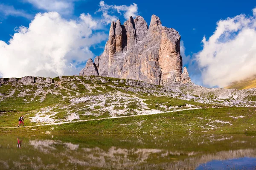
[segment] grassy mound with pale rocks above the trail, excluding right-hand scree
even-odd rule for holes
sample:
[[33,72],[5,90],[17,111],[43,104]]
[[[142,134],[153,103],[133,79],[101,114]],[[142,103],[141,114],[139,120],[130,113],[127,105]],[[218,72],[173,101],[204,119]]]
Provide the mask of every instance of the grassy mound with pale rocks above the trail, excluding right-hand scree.
[[26,125],[38,125],[213,106],[161,86],[130,83],[134,87],[122,79],[74,76],[50,84],[7,81],[0,85],[0,127],[17,126],[21,115]]

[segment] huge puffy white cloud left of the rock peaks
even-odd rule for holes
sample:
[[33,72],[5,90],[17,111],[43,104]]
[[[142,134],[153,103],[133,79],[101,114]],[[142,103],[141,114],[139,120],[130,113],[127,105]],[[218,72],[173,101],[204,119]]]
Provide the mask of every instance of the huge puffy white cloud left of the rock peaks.
[[93,34],[97,24],[89,14],[65,20],[57,12],[38,13],[29,28],[20,26],[8,44],[0,41],[1,76],[77,74],[80,63],[93,57],[90,47],[108,37]]

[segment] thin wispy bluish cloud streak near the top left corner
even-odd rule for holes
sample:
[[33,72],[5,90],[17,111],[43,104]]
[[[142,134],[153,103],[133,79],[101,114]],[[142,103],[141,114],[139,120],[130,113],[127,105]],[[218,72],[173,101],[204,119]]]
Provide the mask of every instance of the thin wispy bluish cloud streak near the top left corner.
[[15,9],[13,6],[8,6],[4,4],[0,4],[0,14],[3,14],[5,17],[7,16],[15,16],[15,17],[25,17],[27,19],[32,19],[33,15],[28,14],[26,11]]

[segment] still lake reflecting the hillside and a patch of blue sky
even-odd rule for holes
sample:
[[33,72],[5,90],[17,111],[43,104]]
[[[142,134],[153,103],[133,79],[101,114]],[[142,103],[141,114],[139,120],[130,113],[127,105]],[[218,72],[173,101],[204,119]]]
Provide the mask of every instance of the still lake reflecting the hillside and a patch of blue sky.
[[256,168],[256,136],[0,135],[3,170]]

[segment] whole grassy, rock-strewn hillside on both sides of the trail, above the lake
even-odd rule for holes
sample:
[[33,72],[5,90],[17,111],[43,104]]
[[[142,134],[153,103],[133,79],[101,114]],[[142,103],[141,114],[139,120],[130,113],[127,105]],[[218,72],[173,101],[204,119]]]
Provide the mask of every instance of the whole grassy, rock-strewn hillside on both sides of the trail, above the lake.
[[[227,107],[230,101],[236,103],[234,99],[189,95],[180,91],[179,86],[165,88],[136,80],[63,76],[56,77],[54,82],[50,83],[29,83],[20,79],[4,79],[0,84],[0,131],[24,133],[254,131],[255,108],[230,108]],[[237,103],[239,106],[244,105]],[[194,108],[198,110],[182,111]],[[21,115],[25,116],[26,126],[46,126],[5,128],[17,127],[17,120]],[[54,123],[65,124],[52,125]]]

